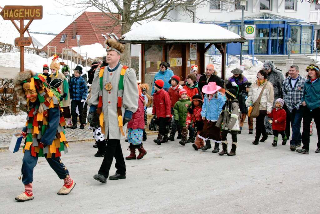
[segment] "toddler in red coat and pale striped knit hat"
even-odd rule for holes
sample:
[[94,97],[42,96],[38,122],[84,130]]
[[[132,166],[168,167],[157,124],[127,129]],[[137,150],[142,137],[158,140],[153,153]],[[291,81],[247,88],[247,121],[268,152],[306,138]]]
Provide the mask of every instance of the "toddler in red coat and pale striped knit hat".
[[276,100],[276,108],[274,108],[271,113],[268,115],[269,118],[273,119],[272,121],[272,130],[273,130],[273,146],[277,146],[279,133],[282,136],[282,145],[287,143],[287,136],[284,133],[285,122],[286,122],[286,112],[282,109],[284,105],[284,100],[279,98]]

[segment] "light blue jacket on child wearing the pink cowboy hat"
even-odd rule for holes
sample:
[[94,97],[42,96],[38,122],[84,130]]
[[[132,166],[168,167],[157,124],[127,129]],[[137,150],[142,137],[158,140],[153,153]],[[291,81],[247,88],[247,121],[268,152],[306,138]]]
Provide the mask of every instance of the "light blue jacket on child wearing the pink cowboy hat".
[[225,100],[220,92],[218,92],[218,98],[215,98],[215,95],[213,95],[210,102],[209,96],[206,94],[202,105],[201,117],[205,117],[207,120],[217,121],[224,103]]

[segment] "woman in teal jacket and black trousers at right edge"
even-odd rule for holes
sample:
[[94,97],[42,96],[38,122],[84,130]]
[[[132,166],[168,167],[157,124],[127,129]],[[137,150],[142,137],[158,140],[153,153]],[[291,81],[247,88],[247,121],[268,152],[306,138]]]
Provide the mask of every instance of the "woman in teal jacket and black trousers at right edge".
[[302,105],[307,106],[303,110],[302,149],[296,151],[301,154],[309,154],[310,123],[314,119],[318,134],[316,153],[320,153],[320,71],[316,65],[309,65],[307,81],[303,87]]

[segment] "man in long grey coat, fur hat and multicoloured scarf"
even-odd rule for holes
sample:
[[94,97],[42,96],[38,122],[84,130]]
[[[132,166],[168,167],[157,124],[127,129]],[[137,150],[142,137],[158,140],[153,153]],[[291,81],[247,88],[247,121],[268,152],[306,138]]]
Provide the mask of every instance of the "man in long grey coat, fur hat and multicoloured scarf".
[[95,111],[100,114],[100,127],[107,142],[107,152],[94,179],[107,183],[113,157],[116,159],[116,174],[110,180],[125,177],[125,163],[120,139],[125,138],[127,122],[138,109],[138,86],[133,69],[119,63],[124,45],[114,39],[106,40],[108,66],[97,69],[92,81],[88,122]]

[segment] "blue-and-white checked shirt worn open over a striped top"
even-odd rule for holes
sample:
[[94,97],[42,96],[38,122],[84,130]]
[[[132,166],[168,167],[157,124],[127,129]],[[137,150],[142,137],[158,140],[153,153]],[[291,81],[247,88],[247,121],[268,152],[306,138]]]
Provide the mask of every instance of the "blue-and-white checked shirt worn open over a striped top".
[[298,80],[294,88],[292,89],[291,77],[287,77],[284,79],[282,85],[283,99],[290,112],[292,112],[294,108],[300,108],[300,105],[302,103],[301,98],[303,97],[303,87],[306,81],[306,78],[299,75]]

